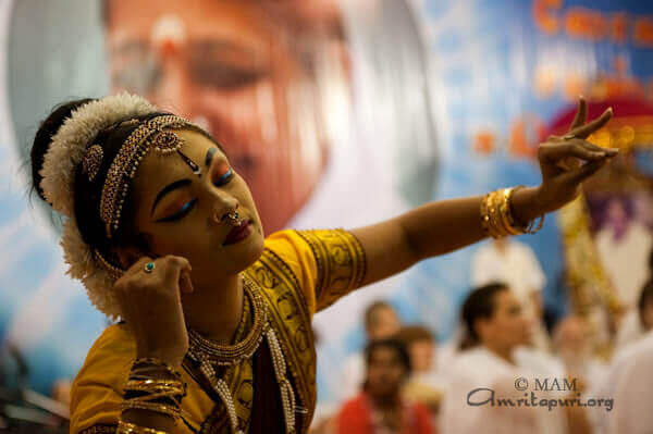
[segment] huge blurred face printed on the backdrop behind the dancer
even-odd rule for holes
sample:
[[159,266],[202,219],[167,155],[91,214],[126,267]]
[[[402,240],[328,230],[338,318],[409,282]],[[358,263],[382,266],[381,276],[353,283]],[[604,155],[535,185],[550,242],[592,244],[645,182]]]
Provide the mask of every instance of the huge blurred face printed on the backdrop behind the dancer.
[[287,38],[248,0],[108,0],[114,91],[202,125],[276,231],[306,202],[325,149],[312,87]]

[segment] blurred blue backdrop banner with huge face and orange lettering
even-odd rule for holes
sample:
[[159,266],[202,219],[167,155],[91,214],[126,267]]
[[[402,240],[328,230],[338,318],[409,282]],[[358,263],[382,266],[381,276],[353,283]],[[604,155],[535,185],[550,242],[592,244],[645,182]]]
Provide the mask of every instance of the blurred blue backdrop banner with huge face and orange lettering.
[[[57,219],[28,195],[38,123],[75,97],[128,90],[205,126],[248,181],[269,234],[359,226],[432,199],[534,185],[537,144],[560,131],[584,95],[617,114],[592,139],[631,151],[592,186],[580,214],[596,260],[616,245],[641,258],[650,248],[634,243],[651,228],[646,2],[1,0],[0,53],[0,384],[25,373],[49,394],[74,377],[107,325],[65,276]],[[620,244],[631,221],[645,235]],[[569,220],[560,222],[547,219],[522,239],[542,264],[552,318],[578,308],[560,285],[563,270],[577,265],[566,263],[572,239],[560,227]],[[402,320],[446,340],[476,249],[317,315],[321,402],[336,399],[341,361],[362,345],[360,317],[372,300],[389,299]],[[613,296],[636,285],[604,271]]]

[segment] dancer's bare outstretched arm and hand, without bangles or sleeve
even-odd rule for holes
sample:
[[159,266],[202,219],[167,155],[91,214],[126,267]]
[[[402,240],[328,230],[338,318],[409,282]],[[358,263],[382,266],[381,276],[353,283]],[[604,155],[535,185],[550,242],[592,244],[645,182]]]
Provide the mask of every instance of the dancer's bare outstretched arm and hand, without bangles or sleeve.
[[[615,149],[586,140],[611,117],[612,109],[608,109],[586,124],[587,104],[580,99],[569,133],[564,137],[552,136],[540,145],[542,184],[516,189],[512,197],[512,214],[518,224],[526,226],[576,198],[582,182],[617,154]],[[395,219],[353,230],[367,255],[364,285],[486,237],[481,225],[481,200],[479,196],[430,202]]]

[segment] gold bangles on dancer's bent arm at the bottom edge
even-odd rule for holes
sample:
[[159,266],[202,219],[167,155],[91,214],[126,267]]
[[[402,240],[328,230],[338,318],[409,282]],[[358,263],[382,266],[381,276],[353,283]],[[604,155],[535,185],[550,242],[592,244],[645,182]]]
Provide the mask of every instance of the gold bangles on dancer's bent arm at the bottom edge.
[[[181,374],[158,359],[137,359],[124,386],[121,410],[148,410],[178,420],[186,384]],[[119,421],[116,434],[165,434],[159,430]]]

